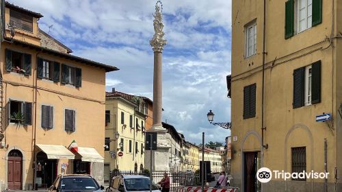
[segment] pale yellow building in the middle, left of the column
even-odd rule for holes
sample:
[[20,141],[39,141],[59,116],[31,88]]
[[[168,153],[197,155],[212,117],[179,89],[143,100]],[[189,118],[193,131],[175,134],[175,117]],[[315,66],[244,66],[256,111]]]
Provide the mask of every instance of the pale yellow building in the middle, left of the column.
[[[105,150],[105,174],[115,169],[133,173],[144,170],[145,118],[149,101],[114,88],[106,93],[105,141],[109,147]],[[118,139],[116,133],[120,135]],[[118,156],[119,152],[122,156]]]

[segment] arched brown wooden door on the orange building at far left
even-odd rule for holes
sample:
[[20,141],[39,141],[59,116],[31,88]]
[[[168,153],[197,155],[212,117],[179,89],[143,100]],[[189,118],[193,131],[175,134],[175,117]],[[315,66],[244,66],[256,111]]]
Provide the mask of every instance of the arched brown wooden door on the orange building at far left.
[[13,149],[8,154],[8,189],[11,190],[21,190],[22,174],[23,174],[23,154],[17,150]]

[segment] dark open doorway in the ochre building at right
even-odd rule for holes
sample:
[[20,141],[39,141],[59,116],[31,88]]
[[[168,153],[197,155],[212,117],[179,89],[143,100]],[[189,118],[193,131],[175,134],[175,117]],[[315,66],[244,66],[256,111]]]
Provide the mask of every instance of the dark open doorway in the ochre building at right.
[[257,180],[257,171],[261,168],[260,152],[244,152],[244,191],[260,192],[261,183]]

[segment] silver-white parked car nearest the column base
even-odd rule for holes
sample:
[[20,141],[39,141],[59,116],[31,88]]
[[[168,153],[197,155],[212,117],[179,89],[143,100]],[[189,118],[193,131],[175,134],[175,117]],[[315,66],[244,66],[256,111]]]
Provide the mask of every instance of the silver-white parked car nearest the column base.
[[[129,192],[129,191],[150,191],[150,178],[146,176],[116,176],[111,179],[106,192]],[[157,185],[152,182],[152,191],[160,192]]]

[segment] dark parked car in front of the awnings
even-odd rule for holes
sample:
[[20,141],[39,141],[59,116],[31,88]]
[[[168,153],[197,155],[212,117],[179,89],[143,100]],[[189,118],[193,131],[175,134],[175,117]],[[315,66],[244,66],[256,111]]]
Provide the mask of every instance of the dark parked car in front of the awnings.
[[57,176],[53,185],[49,187],[51,192],[64,192],[64,191],[94,191],[99,192],[105,189],[102,185],[90,175],[60,175]]

